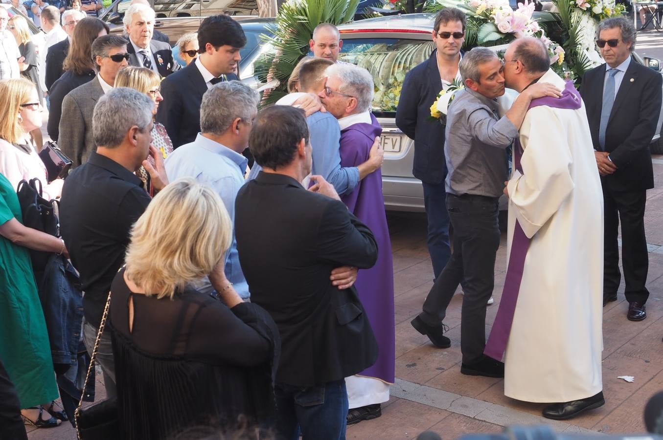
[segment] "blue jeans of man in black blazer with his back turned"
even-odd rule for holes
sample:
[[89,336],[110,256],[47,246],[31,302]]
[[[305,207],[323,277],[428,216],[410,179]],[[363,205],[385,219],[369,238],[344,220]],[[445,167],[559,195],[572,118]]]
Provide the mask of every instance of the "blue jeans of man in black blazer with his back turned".
[[345,440],[345,380],[302,388],[276,383],[276,431],[279,439]]

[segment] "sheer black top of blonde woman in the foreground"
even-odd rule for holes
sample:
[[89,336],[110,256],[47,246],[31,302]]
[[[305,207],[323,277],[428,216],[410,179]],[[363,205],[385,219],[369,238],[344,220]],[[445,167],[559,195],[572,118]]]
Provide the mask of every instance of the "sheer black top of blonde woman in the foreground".
[[133,294],[123,274],[109,312],[121,438],[166,439],[239,415],[273,425],[280,339],[269,314],[252,303],[229,309],[192,288],[174,300]]

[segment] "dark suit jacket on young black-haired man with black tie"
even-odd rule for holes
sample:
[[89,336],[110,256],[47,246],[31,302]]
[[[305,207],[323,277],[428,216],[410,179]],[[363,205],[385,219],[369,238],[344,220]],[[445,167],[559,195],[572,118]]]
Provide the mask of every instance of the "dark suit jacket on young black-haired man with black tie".
[[[229,81],[237,75],[227,75]],[[166,127],[173,148],[196,140],[200,131],[200,105],[208,90],[196,63],[164,78],[161,95],[164,97],[156,113],[156,121]]]

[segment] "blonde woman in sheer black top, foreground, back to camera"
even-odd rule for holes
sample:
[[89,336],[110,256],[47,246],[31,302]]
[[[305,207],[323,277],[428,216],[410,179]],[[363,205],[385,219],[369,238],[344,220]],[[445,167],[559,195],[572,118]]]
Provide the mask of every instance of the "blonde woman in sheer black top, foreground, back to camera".
[[[231,239],[219,195],[192,178],[166,186],[133,226],[109,313],[121,438],[272,416],[278,330],[223,273]],[[205,276],[221,301],[194,288]]]

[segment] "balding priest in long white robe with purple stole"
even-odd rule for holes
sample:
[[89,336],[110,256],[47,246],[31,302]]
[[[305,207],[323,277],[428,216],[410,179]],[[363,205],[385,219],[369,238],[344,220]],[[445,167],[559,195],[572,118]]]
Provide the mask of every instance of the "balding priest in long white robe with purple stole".
[[518,92],[540,82],[564,91],[532,100],[514,143],[509,266],[485,353],[504,359],[506,396],[569,419],[605,404],[601,182],[583,101],[541,40],[512,42],[504,76]]

